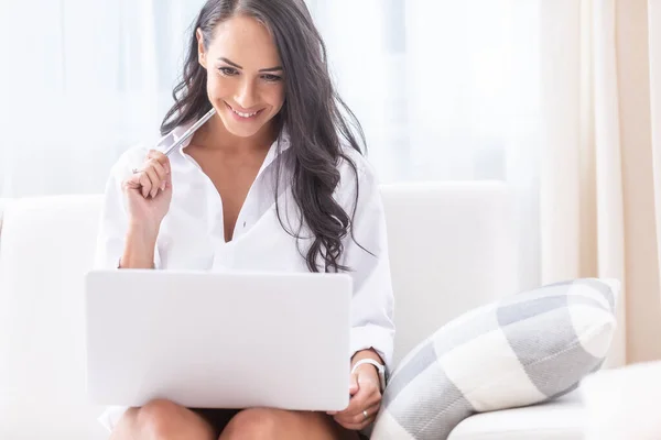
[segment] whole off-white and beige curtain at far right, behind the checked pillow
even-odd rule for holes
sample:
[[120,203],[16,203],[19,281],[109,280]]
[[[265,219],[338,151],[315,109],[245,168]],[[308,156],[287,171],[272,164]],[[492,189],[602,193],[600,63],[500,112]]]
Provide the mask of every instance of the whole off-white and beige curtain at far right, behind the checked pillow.
[[622,283],[611,365],[661,359],[661,1],[542,8],[542,283]]

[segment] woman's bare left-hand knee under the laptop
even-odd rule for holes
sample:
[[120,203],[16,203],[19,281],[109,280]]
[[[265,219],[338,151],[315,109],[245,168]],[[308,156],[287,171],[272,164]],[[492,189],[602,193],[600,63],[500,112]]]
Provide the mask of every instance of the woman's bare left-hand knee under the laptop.
[[169,400],[129,409],[110,440],[216,440],[213,428],[195,413]]

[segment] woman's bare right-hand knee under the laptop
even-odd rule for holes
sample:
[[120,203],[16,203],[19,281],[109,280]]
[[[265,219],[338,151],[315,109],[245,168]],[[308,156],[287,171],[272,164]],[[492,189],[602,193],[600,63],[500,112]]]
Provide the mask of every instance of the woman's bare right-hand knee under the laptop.
[[323,413],[254,408],[237,414],[218,440],[358,440]]

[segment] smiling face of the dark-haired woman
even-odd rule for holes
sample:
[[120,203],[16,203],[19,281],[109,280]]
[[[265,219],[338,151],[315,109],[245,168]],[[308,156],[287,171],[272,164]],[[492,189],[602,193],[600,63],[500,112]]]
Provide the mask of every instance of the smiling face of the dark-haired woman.
[[254,135],[284,103],[284,70],[270,32],[239,15],[216,26],[208,50],[199,30],[197,42],[207,94],[225,128],[236,136]]

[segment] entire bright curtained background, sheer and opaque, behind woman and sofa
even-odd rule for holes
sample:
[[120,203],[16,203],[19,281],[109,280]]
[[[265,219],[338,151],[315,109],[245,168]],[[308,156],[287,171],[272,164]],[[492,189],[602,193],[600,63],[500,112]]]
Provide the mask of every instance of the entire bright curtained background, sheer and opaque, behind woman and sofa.
[[[0,197],[100,193],[153,142],[202,3],[0,0]],[[520,288],[618,277],[626,356],[661,358],[660,1],[308,4],[381,180],[507,182]]]

